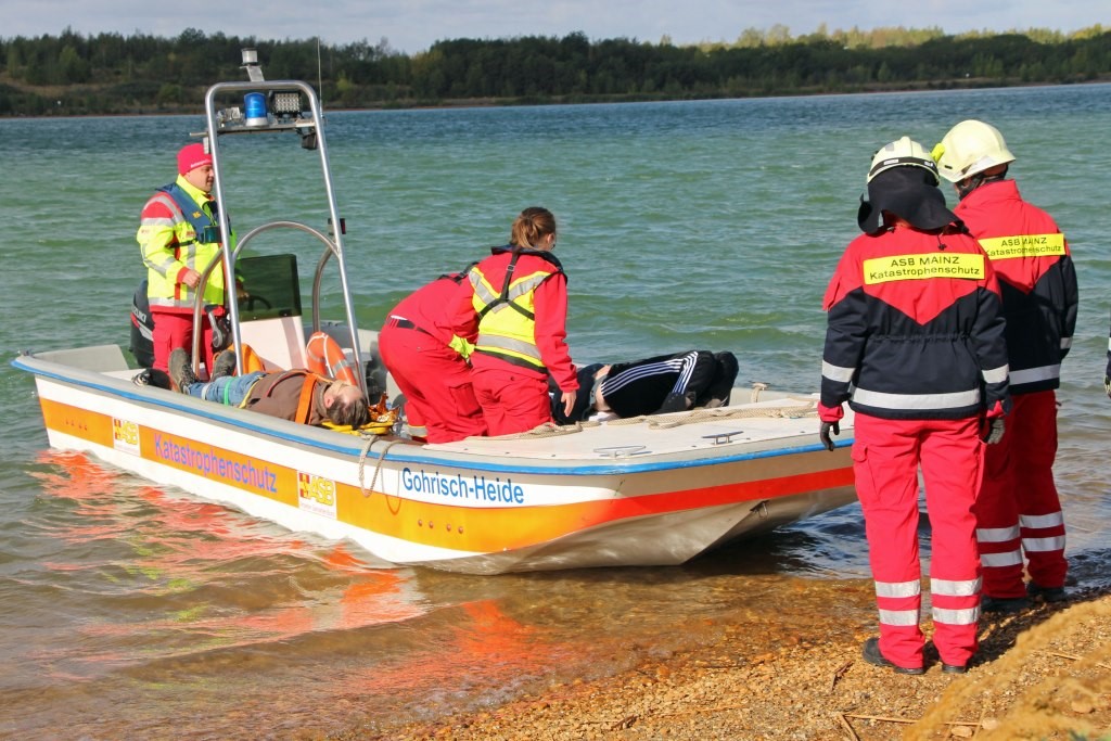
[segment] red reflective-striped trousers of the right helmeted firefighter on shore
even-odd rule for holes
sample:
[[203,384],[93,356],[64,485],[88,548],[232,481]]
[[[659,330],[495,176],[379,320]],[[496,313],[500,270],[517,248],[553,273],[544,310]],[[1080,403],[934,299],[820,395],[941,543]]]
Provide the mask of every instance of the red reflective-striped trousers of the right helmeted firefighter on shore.
[[1012,398],[1003,439],[988,445],[983,484],[977,499],[977,539],[983,563],[983,593],[1024,597],[1022,553],[1039,587],[1063,587],[1064,518],[1053,483],[1057,457],[1057,394]]

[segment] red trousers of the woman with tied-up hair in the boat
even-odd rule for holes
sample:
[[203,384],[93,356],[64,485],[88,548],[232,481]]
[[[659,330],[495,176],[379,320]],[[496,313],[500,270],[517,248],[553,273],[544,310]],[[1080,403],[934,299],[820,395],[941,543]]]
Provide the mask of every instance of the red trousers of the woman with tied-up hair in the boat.
[[471,378],[490,434],[528,432],[552,421],[547,380],[516,370],[509,363],[504,369],[476,369]]

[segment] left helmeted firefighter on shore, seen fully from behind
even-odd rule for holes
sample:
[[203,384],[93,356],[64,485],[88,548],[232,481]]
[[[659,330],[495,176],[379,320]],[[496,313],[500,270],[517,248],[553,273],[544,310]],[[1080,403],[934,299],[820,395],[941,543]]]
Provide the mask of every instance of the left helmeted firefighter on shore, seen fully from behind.
[[925,670],[919,469],[932,530],[933,642],[942,670],[963,672],[978,648],[981,435],[999,439],[1010,404],[995,274],[938,183],[929,152],[908,137],[872,160],[858,214],[864,234],[825,292],[818,408],[830,450],[841,404],[855,412],[853,473],[880,623],[863,658],[908,674]]

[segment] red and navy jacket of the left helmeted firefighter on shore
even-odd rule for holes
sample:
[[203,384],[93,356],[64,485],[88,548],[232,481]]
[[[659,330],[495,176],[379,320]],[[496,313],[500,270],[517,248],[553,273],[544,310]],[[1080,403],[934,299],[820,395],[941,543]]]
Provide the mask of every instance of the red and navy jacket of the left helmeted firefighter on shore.
[[999,283],[967,233],[897,227],[858,237],[824,308],[822,405],[919,420],[1010,408]]

